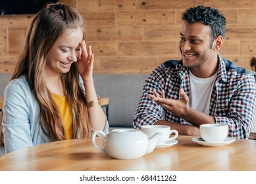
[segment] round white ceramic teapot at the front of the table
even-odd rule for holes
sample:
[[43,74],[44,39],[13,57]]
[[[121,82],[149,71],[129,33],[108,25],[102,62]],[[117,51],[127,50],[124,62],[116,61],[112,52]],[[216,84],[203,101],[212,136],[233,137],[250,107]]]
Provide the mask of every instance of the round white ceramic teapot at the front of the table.
[[[104,137],[104,149],[100,148],[95,142],[97,135]],[[156,133],[148,138],[142,131],[128,128],[113,129],[107,134],[104,131],[94,131],[92,143],[96,149],[108,154],[112,158],[134,159],[152,152],[157,145],[160,135],[160,133]]]

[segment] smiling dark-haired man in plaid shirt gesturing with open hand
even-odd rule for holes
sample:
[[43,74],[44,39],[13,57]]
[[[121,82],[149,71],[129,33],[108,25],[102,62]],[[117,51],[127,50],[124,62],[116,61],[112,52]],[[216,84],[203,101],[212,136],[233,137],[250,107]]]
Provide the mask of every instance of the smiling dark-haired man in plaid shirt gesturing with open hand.
[[253,124],[256,85],[253,75],[221,49],[226,18],[217,9],[194,7],[182,14],[182,60],[168,60],[145,81],[134,128],[162,124],[179,135],[199,136],[201,124],[228,124],[228,136],[247,139]]

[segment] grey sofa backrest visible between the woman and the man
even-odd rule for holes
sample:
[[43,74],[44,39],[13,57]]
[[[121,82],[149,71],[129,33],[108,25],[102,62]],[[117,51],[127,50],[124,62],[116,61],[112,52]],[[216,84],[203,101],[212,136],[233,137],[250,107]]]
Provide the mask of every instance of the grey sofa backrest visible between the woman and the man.
[[109,97],[109,126],[132,127],[142,87],[149,74],[94,74],[97,94]]

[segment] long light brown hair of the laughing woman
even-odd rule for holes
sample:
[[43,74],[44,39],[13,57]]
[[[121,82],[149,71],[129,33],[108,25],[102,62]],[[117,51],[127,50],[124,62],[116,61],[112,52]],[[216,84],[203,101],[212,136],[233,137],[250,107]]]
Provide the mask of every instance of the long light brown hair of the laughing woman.
[[[76,28],[82,28],[85,36],[84,19],[76,9],[61,3],[46,5],[36,14],[30,25],[24,50],[11,77],[11,80],[22,75],[28,77],[32,93],[39,104],[39,122],[44,133],[52,141],[66,138],[61,114],[45,84],[43,68],[53,43],[65,30]],[[61,74],[61,80],[72,109],[74,138],[91,137],[85,92],[80,85],[76,64],[72,64],[69,72]]]

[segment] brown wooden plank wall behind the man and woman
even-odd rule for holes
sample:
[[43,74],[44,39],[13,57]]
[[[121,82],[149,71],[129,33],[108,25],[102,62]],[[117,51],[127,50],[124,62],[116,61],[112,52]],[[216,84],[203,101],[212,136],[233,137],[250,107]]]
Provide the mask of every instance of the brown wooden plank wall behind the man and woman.
[[[215,7],[226,16],[222,57],[251,70],[256,56],[255,0],[63,0],[87,21],[86,41],[95,53],[95,73],[150,73],[180,59],[181,14],[188,7]],[[34,15],[0,16],[0,73],[13,72]]]

